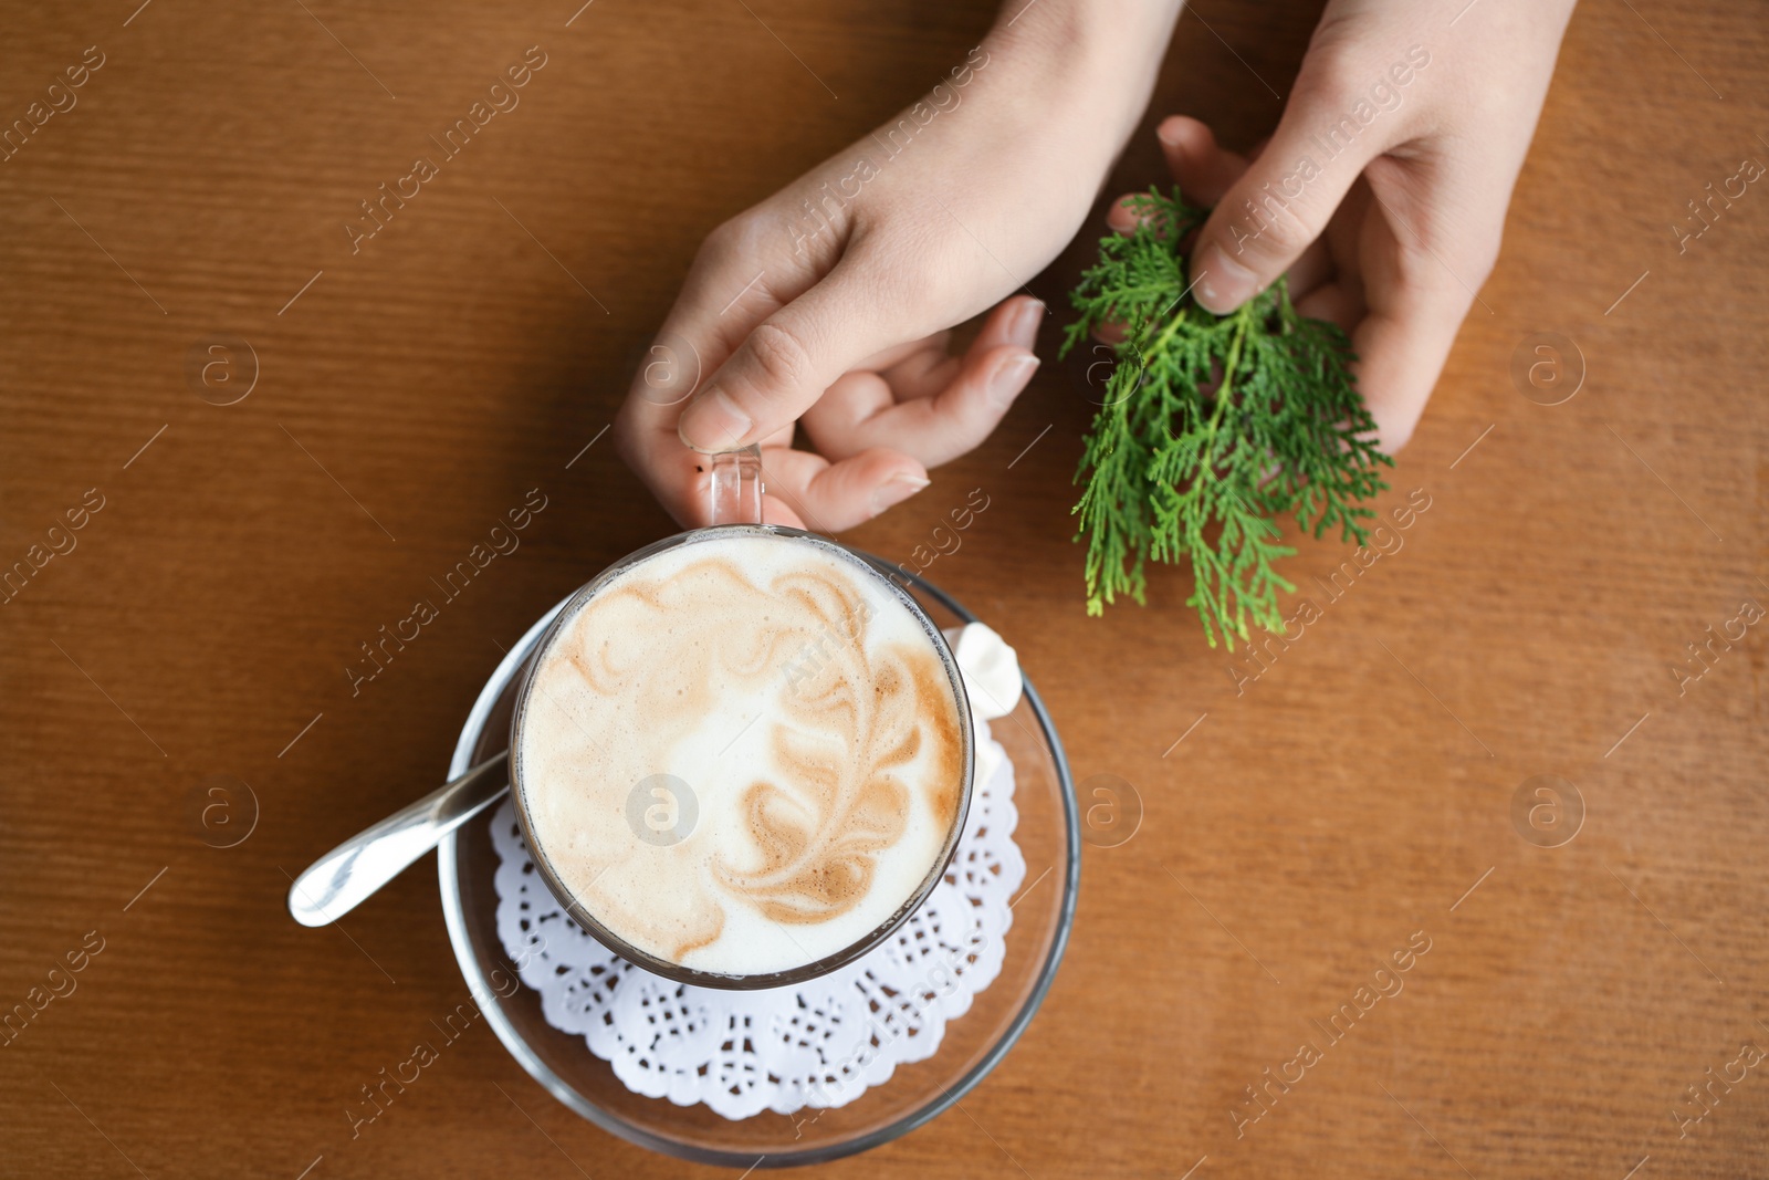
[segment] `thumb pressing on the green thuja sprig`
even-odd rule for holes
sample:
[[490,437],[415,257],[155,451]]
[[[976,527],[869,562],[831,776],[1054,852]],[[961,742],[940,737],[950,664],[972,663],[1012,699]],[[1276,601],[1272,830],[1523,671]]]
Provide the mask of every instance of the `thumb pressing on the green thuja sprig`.
[[1192,246],[1198,303],[1217,315],[1277,281],[1327,230],[1364,165],[1385,149],[1350,115],[1323,124],[1323,104],[1304,94],[1298,90],[1272,142],[1222,195]]

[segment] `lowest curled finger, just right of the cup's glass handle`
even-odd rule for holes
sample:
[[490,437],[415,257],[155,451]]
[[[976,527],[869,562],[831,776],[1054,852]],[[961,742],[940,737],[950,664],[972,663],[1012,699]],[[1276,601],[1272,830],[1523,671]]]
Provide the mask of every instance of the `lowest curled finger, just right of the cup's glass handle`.
[[762,483],[762,520],[768,524],[840,533],[925,488],[927,469],[888,448],[837,464],[810,451],[764,448]]

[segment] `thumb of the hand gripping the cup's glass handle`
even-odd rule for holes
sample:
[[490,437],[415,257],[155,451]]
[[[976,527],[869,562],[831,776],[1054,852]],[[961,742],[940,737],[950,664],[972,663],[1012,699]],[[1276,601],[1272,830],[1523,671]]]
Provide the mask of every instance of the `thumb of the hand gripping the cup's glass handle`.
[[821,283],[750,329],[681,414],[695,451],[734,451],[789,426],[854,364],[890,345],[863,283],[837,265]]

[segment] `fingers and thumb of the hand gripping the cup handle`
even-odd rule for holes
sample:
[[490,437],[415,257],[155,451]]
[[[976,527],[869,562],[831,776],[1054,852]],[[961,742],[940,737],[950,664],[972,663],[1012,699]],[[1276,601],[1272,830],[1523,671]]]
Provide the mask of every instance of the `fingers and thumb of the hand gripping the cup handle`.
[[[683,527],[709,522],[706,455],[685,442],[759,441],[764,518],[847,529],[925,487],[929,464],[975,448],[1037,366],[1035,299],[998,308],[971,350],[948,357],[946,333],[900,343],[900,326],[883,322],[844,265],[816,285],[785,276],[777,287],[729,246],[702,251],[616,419],[623,456]],[[789,446],[793,421],[819,400],[835,409],[823,412],[824,437],[840,441],[835,464]],[[922,409],[888,414],[899,403]]]

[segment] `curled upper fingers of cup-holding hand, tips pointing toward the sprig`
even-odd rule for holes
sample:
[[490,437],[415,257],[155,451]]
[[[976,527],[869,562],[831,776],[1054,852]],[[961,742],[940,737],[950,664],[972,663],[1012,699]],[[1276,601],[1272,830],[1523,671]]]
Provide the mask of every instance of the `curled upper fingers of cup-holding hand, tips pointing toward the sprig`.
[[1031,380],[1038,368],[1033,345],[1042,320],[1044,304],[1037,299],[1005,301],[962,361],[948,361],[953,370],[920,370],[950,373],[932,396],[906,391],[897,370],[847,373],[805,412],[805,433],[835,460],[890,448],[923,467],[952,462],[989,437]]

